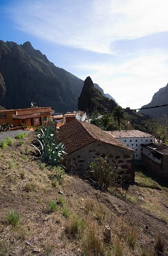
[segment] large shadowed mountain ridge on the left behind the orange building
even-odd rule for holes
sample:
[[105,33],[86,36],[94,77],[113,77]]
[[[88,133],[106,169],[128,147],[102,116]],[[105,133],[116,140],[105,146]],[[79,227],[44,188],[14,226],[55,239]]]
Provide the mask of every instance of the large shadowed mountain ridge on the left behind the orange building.
[[4,108],[27,108],[33,101],[57,112],[76,110],[83,83],[56,67],[30,42],[0,40],[0,105]]

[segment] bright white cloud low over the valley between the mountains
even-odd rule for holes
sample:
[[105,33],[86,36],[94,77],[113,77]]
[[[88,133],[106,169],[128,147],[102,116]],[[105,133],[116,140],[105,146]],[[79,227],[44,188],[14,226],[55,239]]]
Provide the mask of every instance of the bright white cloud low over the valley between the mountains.
[[[168,82],[168,52],[141,52],[120,64],[84,63],[76,68],[90,70],[93,82],[111,94],[123,107],[140,108]],[[82,77],[83,79],[86,76]]]

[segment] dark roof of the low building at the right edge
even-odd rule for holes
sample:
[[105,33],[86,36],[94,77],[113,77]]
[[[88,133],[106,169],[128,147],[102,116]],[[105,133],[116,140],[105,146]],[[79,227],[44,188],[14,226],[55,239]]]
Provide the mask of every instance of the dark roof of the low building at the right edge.
[[142,144],[142,146],[152,152],[153,155],[156,155],[157,153],[168,155],[168,145],[164,143],[151,143],[147,145]]

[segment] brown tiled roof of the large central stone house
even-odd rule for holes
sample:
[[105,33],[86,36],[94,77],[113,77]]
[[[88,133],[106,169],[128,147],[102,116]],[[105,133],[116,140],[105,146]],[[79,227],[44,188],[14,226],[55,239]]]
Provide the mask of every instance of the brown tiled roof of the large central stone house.
[[97,126],[77,119],[68,122],[60,128],[59,140],[66,145],[67,154],[83,148],[96,140],[133,151],[131,148],[119,142]]

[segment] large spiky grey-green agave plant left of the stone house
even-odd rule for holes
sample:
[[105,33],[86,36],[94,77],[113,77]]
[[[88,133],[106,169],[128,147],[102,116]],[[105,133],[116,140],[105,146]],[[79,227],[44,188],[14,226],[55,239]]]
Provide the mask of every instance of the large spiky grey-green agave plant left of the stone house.
[[55,134],[55,126],[45,125],[37,134],[37,142],[39,148],[31,144],[41,155],[41,160],[47,162],[50,166],[58,165],[61,156],[65,155],[64,144],[57,144],[57,136]]

